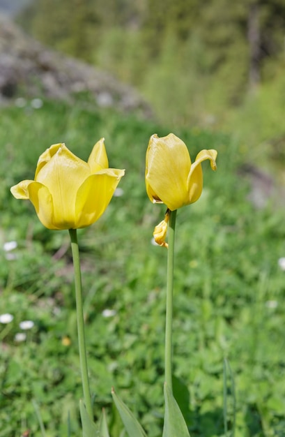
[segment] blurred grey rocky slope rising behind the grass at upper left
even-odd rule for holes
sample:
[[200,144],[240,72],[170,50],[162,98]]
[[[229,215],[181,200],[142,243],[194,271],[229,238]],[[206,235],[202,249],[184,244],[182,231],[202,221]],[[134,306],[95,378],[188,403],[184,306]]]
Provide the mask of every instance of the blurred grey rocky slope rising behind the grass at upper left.
[[0,103],[22,95],[72,101],[80,93],[89,93],[98,106],[151,114],[148,104],[128,85],[47,49],[0,15]]

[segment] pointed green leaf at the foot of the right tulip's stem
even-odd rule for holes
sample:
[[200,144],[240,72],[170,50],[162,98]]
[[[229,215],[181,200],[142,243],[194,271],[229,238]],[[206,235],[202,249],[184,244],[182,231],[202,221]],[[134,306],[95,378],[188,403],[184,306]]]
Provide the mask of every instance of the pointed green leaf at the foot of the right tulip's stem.
[[164,426],[162,437],[190,437],[184,417],[167,383],[164,383]]

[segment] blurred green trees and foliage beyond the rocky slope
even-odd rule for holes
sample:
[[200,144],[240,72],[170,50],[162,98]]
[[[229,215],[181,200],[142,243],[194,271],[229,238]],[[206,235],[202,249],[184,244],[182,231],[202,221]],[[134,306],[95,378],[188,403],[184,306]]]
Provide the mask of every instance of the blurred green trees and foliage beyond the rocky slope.
[[229,127],[245,139],[244,114],[254,122],[257,111],[254,145],[285,131],[284,17],[284,0],[35,0],[18,21],[133,84],[164,123]]

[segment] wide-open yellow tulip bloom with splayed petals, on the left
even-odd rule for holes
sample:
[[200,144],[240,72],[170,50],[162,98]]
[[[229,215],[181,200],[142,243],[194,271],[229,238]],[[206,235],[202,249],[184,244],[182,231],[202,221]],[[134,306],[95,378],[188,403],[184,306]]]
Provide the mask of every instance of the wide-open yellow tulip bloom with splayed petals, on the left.
[[17,199],[31,200],[48,229],[85,228],[105,212],[125,173],[108,166],[104,138],[95,144],[87,163],[66,145],[52,145],[40,155],[35,179],[10,191]]

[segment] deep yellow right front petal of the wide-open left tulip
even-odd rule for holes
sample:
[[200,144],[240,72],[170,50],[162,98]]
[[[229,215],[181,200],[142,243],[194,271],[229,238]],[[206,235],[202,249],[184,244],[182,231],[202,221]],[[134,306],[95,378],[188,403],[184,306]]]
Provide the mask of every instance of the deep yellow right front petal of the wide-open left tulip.
[[84,181],[76,197],[75,228],[85,228],[102,216],[124,174],[124,170],[107,168]]

